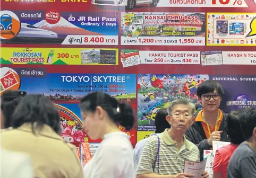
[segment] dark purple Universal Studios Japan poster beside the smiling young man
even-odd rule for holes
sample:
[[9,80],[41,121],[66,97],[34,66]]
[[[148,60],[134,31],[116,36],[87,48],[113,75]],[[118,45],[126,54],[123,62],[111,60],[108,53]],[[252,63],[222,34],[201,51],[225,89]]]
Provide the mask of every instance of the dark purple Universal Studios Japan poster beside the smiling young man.
[[210,79],[224,88],[220,104],[224,112],[256,108],[256,75],[210,75]]

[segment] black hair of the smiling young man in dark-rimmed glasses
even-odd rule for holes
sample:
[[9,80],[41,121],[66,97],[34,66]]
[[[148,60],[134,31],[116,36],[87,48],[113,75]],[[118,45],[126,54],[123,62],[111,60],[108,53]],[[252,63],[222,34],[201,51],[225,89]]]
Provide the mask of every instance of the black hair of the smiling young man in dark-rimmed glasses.
[[198,86],[197,95],[200,98],[203,94],[213,93],[217,90],[218,94],[222,97],[224,94],[223,87],[216,81],[204,81]]

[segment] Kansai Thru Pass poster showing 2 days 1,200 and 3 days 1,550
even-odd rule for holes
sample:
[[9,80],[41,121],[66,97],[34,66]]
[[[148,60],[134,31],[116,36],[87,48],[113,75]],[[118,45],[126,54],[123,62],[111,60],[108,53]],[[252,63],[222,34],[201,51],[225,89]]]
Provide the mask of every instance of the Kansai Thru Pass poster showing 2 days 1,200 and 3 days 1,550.
[[205,13],[121,13],[121,45],[204,46]]

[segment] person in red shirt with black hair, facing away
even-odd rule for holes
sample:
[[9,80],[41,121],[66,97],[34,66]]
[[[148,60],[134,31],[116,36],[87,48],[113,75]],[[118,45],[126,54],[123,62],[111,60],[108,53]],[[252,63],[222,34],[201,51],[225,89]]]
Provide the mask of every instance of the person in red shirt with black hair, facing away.
[[244,141],[243,132],[240,129],[240,115],[242,111],[231,111],[226,119],[226,131],[231,139],[231,144],[216,150],[212,178],[226,178],[227,166],[235,149]]

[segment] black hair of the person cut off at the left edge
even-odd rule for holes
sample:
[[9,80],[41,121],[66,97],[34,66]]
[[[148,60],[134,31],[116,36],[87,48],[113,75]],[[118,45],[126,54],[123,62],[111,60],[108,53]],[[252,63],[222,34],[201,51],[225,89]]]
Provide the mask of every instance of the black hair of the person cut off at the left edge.
[[1,110],[4,115],[4,128],[12,127],[11,119],[16,106],[27,93],[18,90],[7,90],[1,95]]

